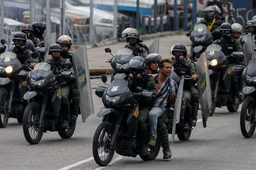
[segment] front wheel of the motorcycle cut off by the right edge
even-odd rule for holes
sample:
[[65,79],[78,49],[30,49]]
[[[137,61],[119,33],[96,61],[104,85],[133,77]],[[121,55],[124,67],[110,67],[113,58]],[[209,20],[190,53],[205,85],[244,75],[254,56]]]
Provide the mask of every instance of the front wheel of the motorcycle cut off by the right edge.
[[256,127],[255,100],[247,97],[242,105],[240,114],[240,128],[244,137],[252,137]]

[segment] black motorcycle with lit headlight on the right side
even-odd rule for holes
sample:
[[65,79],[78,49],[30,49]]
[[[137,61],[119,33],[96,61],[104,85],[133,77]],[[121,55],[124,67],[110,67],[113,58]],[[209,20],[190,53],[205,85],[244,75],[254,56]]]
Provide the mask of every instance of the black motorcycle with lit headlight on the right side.
[[229,112],[236,112],[239,104],[242,103],[242,97],[239,97],[239,103],[232,101],[231,86],[231,70],[228,64],[228,58],[242,61],[243,52],[233,52],[230,56],[225,56],[221,51],[221,47],[212,44],[206,48],[206,56],[208,60],[210,84],[212,91],[212,112],[214,114],[216,107],[227,106]]

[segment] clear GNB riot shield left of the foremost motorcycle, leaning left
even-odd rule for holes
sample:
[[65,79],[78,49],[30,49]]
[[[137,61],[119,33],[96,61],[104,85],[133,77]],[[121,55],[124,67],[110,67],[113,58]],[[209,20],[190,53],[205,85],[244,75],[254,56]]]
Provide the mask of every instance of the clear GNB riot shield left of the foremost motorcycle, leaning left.
[[79,102],[82,122],[85,122],[90,115],[94,114],[86,46],[78,48],[72,58],[76,75],[76,85],[80,92]]

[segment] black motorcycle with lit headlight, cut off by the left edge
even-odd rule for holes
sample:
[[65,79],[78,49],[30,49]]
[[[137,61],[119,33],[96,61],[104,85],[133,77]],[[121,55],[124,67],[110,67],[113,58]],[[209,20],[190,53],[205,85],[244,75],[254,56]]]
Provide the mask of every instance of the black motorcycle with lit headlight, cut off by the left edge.
[[[37,53],[32,54],[33,58],[37,56]],[[6,127],[9,117],[17,118],[22,123],[23,112],[27,106],[27,101],[23,99],[27,83],[18,76],[21,70],[29,66],[26,64],[22,65],[12,52],[4,52],[0,56],[0,128]]]

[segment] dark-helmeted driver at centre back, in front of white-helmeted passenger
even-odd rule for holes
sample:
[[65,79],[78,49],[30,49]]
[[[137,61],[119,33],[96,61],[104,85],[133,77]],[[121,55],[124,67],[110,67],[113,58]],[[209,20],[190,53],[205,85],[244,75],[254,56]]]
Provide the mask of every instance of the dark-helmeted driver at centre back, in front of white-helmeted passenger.
[[130,32],[126,38],[126,41],[129,42],[129,46],[125,46],[124,48],[131,49],[134,56],[142,56],[145,58],[146,55],[148,55],[145,48],[138,46],[140,43],[140,35],[138,33]]

